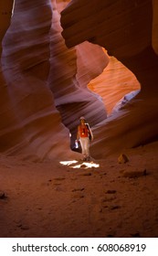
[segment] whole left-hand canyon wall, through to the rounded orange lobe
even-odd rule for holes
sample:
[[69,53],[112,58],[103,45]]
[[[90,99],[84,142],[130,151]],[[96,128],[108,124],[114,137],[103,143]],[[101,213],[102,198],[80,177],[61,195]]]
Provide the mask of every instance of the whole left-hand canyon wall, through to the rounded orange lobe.
[[79,117],[84,114],[91,124],[106,118],[103,102],[87,83],[109,59],[88,42],[72,49],[65,46],[56,1],[16,0],[12,17],[13,1],[5,3],[10,15],[1,30],[0,150],[68,159],[75,154],[69,130],[73,146]]

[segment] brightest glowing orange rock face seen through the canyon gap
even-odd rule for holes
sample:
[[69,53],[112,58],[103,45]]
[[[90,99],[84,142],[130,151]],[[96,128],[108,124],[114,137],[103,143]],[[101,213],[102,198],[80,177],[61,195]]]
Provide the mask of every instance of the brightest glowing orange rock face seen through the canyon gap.
[[[103,51],[108,54],[104,48]],[[100,95],[108,116],[111,112],[119,110],[121,103],[132,100],[141,91],[140,82],[132,71],[118,59],[112,56],[109,56],[109,59],[109,64],[103,72],[88,84],[90,91]]]

